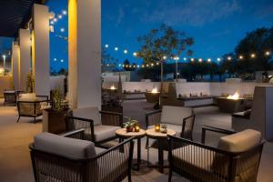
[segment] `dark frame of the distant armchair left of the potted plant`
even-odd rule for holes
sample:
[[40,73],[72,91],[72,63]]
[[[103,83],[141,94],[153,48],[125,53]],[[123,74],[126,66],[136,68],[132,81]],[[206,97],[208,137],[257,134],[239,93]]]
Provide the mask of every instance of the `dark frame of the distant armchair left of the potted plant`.
[[[37,97],[39,97],[41,99],[39,99],[37,101],[20,101],[20,100],[17,101],[17,110],[18,110],[17,123],[19,122],[21,116],[34,117],[34,119],[35,119],[34,123],[36,123],[36,117],[43,115],[42,112],[41,113],[36,113],[36,108],[37,108],[37,106],[41,106],[42,103],[47,103],[48,104],[48,102],[49,102],[48,96],[37,96]],[[25,114],[24,112],[22,112],[21,105],[24,105],[24,104],[28,104],[30,106],[33,106],[32,113]]]

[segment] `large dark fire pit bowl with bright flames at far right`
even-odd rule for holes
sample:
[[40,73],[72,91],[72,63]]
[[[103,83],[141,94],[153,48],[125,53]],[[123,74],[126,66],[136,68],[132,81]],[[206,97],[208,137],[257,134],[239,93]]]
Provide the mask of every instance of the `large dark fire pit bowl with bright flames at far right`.
[[225,113],[236,113],[246,109],[248,99],[239,96],[236,92],[234,95],[217,97],[217,106],[220,111]]

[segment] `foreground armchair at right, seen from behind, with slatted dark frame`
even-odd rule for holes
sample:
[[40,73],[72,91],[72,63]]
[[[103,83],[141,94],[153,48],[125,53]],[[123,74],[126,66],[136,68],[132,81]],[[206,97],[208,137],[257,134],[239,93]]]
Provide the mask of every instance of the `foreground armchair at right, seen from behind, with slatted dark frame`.
[[[217,147],[205,145],[206,131],[227,134]],[[233,135],[230,135],[233,134]],[[264,141],[255,130],[239,133],[204,126],[202,142],[169,136],[169,178],[177,172],[190,181],[256,182]]]

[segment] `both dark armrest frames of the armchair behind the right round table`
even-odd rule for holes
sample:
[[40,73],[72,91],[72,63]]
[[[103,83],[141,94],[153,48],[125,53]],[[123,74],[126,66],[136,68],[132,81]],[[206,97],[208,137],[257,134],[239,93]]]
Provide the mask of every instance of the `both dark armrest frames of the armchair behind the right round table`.
[[[158,110],[151,111],[151,112],[148,112],[148,113],[145,114],[145,116],[146,116],[146,128],[148,126],[153,126],[153,125],[156,125],[156,124],[160,123],[161,112],[162,112],[162,109],[158,109]],[[195,117],[196,117],[196,115],[193,114],[191,116],[187,116],[187,117],[183,118],[183,120],[181,122],[181,127],[182,127],[181,137],[188,138],[188,139],[192,140]],[[188,122],[188,121],[191,121],[191,122]],[[188,123],[189,123],[189,126],[187,126]],[[186,132],[187,127],[189,127],[189,129],[187,130],[189,132]]]

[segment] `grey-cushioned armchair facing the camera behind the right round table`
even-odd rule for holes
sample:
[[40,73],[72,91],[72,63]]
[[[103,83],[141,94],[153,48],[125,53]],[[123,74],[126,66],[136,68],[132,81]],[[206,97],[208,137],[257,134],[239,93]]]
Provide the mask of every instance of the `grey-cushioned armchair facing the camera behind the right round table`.
[[182,106],[163,106],[162,110],[152,111],[146,114],[147,128],[155,124],[167,124],[167,127],[181,136],[192,140],[195,114],[193,109]]

